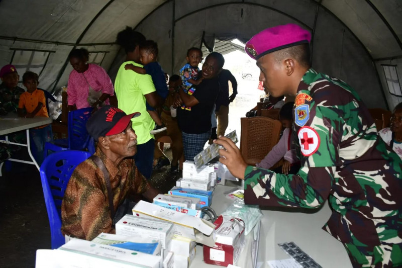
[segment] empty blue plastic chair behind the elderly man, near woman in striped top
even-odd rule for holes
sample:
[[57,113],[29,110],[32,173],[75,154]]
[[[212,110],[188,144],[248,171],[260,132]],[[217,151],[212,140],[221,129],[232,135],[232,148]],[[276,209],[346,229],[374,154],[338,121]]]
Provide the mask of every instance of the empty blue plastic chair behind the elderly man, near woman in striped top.
[[93,108],[83,108],[68,113],[68,138],[45,143],[45,158],[49,151],[86,150],[90,136],[86,131],[86,121]]

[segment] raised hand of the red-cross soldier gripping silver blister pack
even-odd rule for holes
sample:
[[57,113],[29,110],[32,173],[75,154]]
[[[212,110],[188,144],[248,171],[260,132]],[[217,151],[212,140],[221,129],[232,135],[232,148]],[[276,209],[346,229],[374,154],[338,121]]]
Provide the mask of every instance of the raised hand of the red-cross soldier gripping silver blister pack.
[[219,155],[221,156],[219,161],[228,167],[232,175],[244,180],[247,164],[236,144],[231,139],[223,136],[219,136],[217,140],[214,140],[214,143],[224,147],[224,149],[219,149]]

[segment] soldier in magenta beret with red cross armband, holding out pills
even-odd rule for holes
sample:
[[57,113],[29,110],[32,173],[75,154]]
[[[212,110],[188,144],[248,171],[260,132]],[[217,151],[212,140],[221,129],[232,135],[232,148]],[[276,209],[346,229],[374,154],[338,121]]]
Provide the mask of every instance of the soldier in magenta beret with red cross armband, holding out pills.
[[289,24],[253,36],[273,97],[296,96],[293,133],[302,167],[294,175],[247,166],[236,145],[216,143],[220,161],[245,180],[245,203],[317,208],[332,216],[323,229],[340,240],[354,267],[402,266],[402,161],[378,136],[368,110],[345,82],[310,65],[310,32]]

